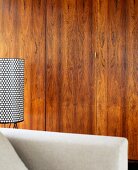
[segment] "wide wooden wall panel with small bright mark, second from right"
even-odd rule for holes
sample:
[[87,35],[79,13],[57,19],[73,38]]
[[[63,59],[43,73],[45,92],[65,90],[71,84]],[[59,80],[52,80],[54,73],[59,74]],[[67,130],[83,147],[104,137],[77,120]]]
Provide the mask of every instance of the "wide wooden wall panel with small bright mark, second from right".
[[125,123],[125,1],[102,0],[96,58],[97,134],[122,136]]

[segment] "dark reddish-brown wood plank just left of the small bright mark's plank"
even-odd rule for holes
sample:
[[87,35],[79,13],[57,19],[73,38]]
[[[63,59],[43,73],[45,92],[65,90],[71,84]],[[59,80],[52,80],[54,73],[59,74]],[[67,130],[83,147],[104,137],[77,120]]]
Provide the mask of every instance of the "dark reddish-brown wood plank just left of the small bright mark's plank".
[[[76,132],[94,133],[95,125],[95,68],[94,68],[94,1],[76,3],[76,53],[74,63],[74,109]],[[74,24],[75,25],[75,24]],[[93,33],[92,33],[93,31]],[[85,120],[85,121],[84,121]]]

